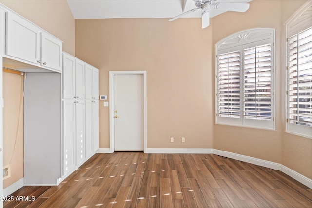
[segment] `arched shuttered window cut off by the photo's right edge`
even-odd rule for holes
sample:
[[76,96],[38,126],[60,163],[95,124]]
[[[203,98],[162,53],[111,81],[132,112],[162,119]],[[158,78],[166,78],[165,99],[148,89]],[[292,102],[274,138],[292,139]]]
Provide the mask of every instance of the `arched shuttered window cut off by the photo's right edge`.
[[286,23],[287,132],[312,137],[312,1]]

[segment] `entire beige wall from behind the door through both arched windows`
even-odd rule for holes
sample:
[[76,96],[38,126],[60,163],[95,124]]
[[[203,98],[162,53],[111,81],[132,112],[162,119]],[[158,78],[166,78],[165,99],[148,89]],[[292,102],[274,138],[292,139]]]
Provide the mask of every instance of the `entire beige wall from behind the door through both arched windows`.
[[[312,140],[285,133],[284,123],[284,24],[306,1],[254,0],[247,12],[216,16],[203,30],[199,19],[76,19],[75,52],[100,69],[101,95],[109,93],[108,71],[147,71],[148,148],[215,148],[312,178]],[[256,27],[276,29],[276,130],[215,125],[215,43]],[[102,106],[100,148],[108,148],[108,108]]]

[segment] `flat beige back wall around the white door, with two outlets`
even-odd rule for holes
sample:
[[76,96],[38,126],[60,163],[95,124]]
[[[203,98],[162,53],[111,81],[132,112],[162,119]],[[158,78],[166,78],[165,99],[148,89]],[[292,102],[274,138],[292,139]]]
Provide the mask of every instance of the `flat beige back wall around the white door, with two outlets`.
[[[148,148],[212,148],[212,27],[198,18],[76,19],[75,30],[76,57],[100,69],[100,95],[109,71],[147,71]],[[109,148],[109,108],[99,106],[100,148]]]

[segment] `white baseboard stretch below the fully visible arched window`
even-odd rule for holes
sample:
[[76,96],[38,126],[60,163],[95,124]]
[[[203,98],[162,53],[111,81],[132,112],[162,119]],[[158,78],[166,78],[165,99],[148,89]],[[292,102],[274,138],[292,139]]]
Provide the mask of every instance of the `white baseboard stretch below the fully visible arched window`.
[[270,162],[267,160],[262,160],[262,159],[258,159],[258,158],[254,158],[254,157],[249,157],[249,156],[245,156],[245,155],[241,155],[241,154],[232,153],[229,151],[222,151],[222,150],[216,150],[216,149],[213,149],[213,153],[216,155],[219,155],[219,156],[229,157],[229,158],[232,158],[235,160],[243,161],[246,163],[251,163],[254,165],[263,166],[266,168],[271,168],[274,170],[281,170],[281,164],[279,164],[279,163],[274,163],[274,162]]

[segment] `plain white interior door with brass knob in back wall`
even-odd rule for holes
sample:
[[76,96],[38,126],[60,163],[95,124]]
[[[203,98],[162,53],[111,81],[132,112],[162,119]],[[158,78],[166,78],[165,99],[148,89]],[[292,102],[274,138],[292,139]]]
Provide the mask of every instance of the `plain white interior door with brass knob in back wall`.
[[143,133],[143,75],[114,75],[115,151],[142,151]]

